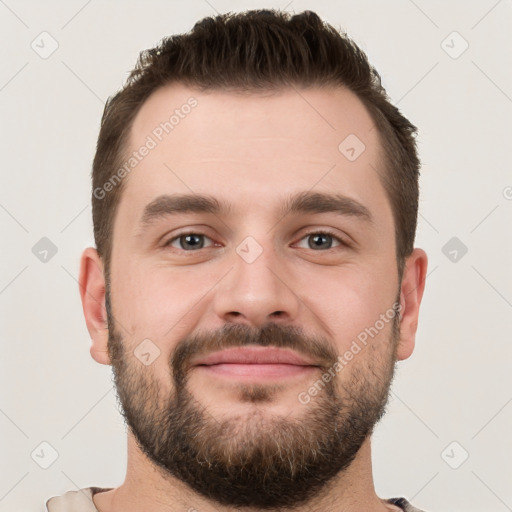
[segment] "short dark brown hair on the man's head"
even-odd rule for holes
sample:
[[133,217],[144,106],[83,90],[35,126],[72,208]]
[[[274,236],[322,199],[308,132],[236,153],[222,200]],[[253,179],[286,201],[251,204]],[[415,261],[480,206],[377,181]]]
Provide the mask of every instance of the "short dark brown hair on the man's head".
[[[126,160],[129,133],[144,101],[174,82],[200,90],[256,92],[286,86],[342,86],[371,115],[384,149],[380,177],[395,222],[399,277],[413,250],[418,215],[416,127],[389,100],[380,75],[344,33],[312,11],[251,10],[207,17],[186,34],[142,51],[123,88],[107,100],[94,157],[92,212],[96,247],[109,280],[114,219],[123,185],[98,197]],[[341,142],[341,141],[340,141]]]

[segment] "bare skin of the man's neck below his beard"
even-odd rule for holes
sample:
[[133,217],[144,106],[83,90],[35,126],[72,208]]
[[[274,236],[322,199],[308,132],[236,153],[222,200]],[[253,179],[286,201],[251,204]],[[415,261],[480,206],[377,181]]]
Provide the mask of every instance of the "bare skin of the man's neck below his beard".
[[[240,508],[221,506],[202,495],[172,475],[165,474],[139,449],[128,429],[128,470],[123,484],[111,491],[94,495],[93,501],[99,512],[178,512],[182,510],[201,512],[235,512]],[[277,509],[276,509],[277,510]],[[368,437],[361,446],[352,464],[342,471],[323,492],[293,512],[384,512],[399,510],[385,504],[375,493],[371,443]],[[256,512],[245,508],[244,512]],[[269,510],[269,512],[272,512]]]

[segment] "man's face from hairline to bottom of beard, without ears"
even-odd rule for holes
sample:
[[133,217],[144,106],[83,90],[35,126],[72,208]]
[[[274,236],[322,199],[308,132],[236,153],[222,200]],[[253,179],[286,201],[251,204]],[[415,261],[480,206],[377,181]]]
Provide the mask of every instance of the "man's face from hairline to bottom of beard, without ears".
[[[197,106],[158,141],[191,96]],[[377,132],[342,89],[173,85],[143,105],[131,151],[148,136],[156,146],[125,178],[107,290],[128,426],[163,474],[219,503],[304,502],[352,462],[393,376],[399,281]],[[221,209],[162,200],[185,194]],[[237,347],[309,365],[206,359]]]

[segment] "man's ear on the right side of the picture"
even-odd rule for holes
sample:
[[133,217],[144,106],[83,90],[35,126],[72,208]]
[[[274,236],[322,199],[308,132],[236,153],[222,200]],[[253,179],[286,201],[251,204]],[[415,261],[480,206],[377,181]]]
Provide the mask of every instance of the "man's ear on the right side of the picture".
[[397,360],[407,359],[414,350],[421,298],[425,289],[428,258],[422,249],[414,249],[405,260],[400,291],[400,341],[397,347]]

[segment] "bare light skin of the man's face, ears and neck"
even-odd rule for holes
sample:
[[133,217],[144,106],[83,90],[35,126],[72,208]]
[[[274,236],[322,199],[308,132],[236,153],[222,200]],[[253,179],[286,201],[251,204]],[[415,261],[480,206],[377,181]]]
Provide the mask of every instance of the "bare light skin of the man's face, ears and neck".
[[[153,93],[142,106],[131,129],[131,150],[168,118],[167,112],[191,96],[198,106],[124,178],[113,233],[109,321],[103,262],[92,247],[82,254],[80,293],[92,357],[112,364],[109,329],[111,338],[117,331],[128,368],[141,382],[154,385],[155,403],[162,405],[176,391],[170,375],[176,348],[196,334],[205,333],[201,340],[208,346],[208,334],[226,324],[259,332],[262,326],[275,323],[301,328],[304,337],[297,338],[298,346],[315,337],[326,353],[343,355],[358,334],[389,310],[398,293],[399,340],[393,340],[391,322],[387,323],[336,374],[333,394],[324,390],[307,405],[297,397],[321,377],[320,369],[282,379],[277,387],[258,380],[259,386],[243,388],[236,379],[183,367],[194,402],[217,423],[239,422],[247,427],[245,440],[248,433],[263,436],[259,429],[250,429],[260,425],[252,423],[255,418],[269,428],[276,419],[303,421],[315,405],[344,397],[345,390],[356,389],[353,377],[358,371],[368,374],[368,389],[387,391],[393,364],[408,358],[414,349],[427,256],[416,248],[399,282],[391,205],[377,174],[382,148],[363,104],[342,88],[287,88],[240,96],[173,84]],[[366,146],[355,161],[338,150],[349,134],[356,134]],[[301,191],[349,196],[366,206],[373,224],[332,212],[280,216],[284,200]],[[230,202],[232,211],[228,215],[181,213],[141,231],[144,207],[162,194],[174,193],[209,194]],[[176,237],[184,228],[206,235],[205,247],[183,249]],[[325,229],[349,245],[333,239],[329,249],[308,246],[308,240]],[[247,236],[262,249],[252,263],[236,252]],[[173,238],[172,246],[163,246]],[[160,350],[149,366],[132,355],[144,339]],[[256,397],[252,401],[247,399],[251,392]],[[266,440],[261,438],[262,443]],[[234,446],[241,447],[243,441],[242,434],[233,437]],[[156,467],[130,429],[125,481],[112,491],[96,494],[94,504],[100,512],[236,510],[194,492]],[[332,485],[293,510],[398,510],[375,493],[370,435]]]

